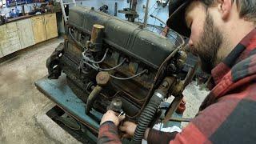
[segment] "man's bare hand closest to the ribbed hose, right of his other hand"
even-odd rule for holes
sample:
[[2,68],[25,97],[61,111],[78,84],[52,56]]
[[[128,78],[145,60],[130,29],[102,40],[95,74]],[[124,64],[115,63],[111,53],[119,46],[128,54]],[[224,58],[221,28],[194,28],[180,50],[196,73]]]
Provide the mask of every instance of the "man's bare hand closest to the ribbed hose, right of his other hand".
[[137,125],[134,122],[123,122],[122,126],[119,126],[119,130],[125,133],[122,138],[132,138],[136,127]]

